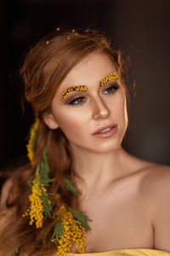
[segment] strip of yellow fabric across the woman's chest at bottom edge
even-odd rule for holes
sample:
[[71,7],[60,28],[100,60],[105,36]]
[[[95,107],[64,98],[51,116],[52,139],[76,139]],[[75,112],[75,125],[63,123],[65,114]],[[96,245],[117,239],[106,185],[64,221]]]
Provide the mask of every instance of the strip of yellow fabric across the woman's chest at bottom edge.
[[104,253],[68,253],[68,256],[170,256],[170,253],[154,249],[119,249]]

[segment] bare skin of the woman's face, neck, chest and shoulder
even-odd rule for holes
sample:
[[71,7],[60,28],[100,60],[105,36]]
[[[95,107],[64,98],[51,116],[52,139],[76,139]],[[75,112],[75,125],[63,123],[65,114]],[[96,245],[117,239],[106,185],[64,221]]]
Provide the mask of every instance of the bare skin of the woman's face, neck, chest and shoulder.
[[[86,251],[156,248],[170,252],[170,168],[141,160],[122,148],[128,121],[123,86],[116,81],[119,89],[113,94],[99,86],[112,72],[116,68],[107,55],[85,57],[60,84],[51,113],[43,119],[50,129],[60,128],[71,144],[75,170],[82,178],[81,182],[74,177],[82,192],[77,206],[93,220]],[[77,84],[86,84],[88,91],[71,92],[66,98],[85,96],[82,105],[70,106],[67,100],[59,100],[65,88]],[[112,80],[105,85],[111,84]],[[118,127],[113,136],[92,136],[96,129],[111,123]]]

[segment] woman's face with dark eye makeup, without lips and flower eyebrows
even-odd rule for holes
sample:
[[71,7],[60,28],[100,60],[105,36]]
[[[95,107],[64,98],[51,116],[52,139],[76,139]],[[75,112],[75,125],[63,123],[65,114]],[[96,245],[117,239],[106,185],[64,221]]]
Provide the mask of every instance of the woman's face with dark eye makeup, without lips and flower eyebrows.
[[[73,67],[62,84],[59,85],[51,113],[45,122],[51,129],[60,128],[72,147],[87,148],[105,152],[118,148],[127,130],[127,103],[119,79],[111,79],[101,84],[116,68],[105,54],[92,53]],[[69,86],[83,85],[87,90],[71,90],[60,99]],[[99,127],[116,124],[116,133],[111,137],[94,137]]]

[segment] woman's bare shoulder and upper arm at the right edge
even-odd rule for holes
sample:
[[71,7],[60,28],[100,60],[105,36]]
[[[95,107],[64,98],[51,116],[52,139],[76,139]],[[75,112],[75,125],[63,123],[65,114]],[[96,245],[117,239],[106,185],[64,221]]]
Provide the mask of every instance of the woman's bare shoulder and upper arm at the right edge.
[[145,168],[140,188],[150,209],[155,249],[170,252],[170,166],[150,164]]

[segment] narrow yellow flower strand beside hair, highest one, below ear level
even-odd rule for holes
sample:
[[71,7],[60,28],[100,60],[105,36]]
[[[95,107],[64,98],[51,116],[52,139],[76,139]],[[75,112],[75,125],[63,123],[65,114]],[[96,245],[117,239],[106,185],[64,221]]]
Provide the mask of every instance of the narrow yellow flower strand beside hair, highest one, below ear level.
[[36,135],[37,128],[38,128],[39,124],[40,124],[40,119],[38,119],[37,113],[36,113],[35,122],[31,127],[29,141],[28,141],[28,144],[26,145],[26,148],[28,151],[27,156],[28,156],[29,160],[31,161],[32,166],[33,166],[34,160],[35,160],[35,154],[34,154],[34,150],[33,150],[33,147],[34,147],[33,140]]

